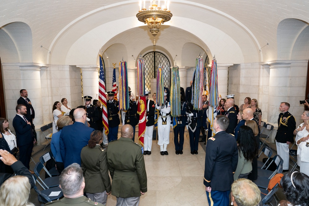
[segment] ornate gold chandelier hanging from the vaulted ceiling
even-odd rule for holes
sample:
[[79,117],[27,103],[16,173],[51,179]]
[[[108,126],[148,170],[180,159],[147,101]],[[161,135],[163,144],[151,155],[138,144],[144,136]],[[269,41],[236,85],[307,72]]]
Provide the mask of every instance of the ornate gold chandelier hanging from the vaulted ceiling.
[[[171,11],[169,11],[169,2],[164,1],[163,9],[160,7],[160,0],[158,4],[156,0],[150,0],[149,10],[146,9],[146,1],[142,6],[142,1],[139,2],[139,11],[136,17],[139,21],[147,23],[149,31],[152,36],[154,36],[153,45],[155,46],[155,36],[157,36],[160,31],[161,23],[171,20],[173,16]],[[162,9],[162,10],[161,10]]]

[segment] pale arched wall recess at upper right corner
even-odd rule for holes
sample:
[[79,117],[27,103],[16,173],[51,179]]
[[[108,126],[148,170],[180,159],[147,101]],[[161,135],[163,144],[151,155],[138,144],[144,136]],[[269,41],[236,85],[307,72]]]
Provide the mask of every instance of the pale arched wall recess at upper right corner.
[[299,19],[284,19],[277,27],[279,60],[309,58],[309,25]]

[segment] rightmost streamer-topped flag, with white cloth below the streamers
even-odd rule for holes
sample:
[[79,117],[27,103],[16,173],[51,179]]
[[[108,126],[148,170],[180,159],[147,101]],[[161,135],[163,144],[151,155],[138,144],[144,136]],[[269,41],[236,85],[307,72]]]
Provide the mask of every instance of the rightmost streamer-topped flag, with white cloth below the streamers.
[[217,60],[214,58],[211,65],[211,74],[209,82],[209,107],[207,120],[210,123],[212,135],[215,135],[214,120],[218,114],[218,69]]

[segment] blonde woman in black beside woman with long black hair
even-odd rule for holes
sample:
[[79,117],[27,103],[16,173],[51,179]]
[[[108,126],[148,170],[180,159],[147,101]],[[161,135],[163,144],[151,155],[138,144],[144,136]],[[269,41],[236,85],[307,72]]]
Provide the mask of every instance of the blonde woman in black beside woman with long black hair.
[[[252,129],[253,134],[254,134],[254,139],[256,141],[256,149],[258,151],[259,150],[259,146],[260,146],[260,136],[259,136],[259,129],[257,128],[256,121],[254,121],[254,120],[247,120],[245,122],[245,125],[247,125],[248,127],[250,127]],[[251,180],[256,180],[257,179],[257,158],[258,158],[258,153],[256,153],[255,158],[253,158],[253,160],[252,160],[252,171],[248,175],[248,179],[251,179]]]

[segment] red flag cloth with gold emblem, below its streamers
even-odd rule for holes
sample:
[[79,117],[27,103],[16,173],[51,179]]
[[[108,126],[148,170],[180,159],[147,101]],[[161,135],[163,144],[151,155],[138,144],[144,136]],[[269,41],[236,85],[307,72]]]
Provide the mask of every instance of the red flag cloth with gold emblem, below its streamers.
[[137,112],[139,114],[138,121],[138,140],[144,146],[144,136],[146,131],[146,97],[140,96],[138,100]]

